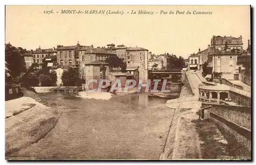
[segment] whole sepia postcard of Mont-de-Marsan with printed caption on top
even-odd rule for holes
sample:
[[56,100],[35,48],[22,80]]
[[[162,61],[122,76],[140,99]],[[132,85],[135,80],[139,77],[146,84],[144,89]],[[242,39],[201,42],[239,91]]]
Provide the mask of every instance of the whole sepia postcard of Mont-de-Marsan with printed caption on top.
[[251,6],[5,6],[6,160],[251,160]]

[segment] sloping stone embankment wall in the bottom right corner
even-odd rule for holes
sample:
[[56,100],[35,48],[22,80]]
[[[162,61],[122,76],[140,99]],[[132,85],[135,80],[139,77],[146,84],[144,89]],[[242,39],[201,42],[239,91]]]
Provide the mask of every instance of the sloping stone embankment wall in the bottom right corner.
[[223,133],[234,152],[243,158],[251,157],[251,107],[202,103],[211,106],[209,116]]

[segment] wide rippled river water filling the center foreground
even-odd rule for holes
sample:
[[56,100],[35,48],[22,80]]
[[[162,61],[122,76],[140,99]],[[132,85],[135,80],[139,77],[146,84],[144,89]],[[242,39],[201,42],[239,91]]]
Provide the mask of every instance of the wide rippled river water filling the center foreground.
[[32,159],[158,159],[174,110],[147,94],[111,100],[40,94],[62,112],[45,138],[19,151]]

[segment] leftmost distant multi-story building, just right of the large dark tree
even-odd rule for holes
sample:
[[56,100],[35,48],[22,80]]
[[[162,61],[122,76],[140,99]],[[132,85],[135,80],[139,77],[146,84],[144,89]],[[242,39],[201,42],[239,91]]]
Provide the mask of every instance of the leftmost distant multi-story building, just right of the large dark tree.
[[33,57],[34,57],[34,63],[41,64],[43,59],[48,56],[56,56],[56,49],[41,49],[40,46],[35,51],[31,50]]

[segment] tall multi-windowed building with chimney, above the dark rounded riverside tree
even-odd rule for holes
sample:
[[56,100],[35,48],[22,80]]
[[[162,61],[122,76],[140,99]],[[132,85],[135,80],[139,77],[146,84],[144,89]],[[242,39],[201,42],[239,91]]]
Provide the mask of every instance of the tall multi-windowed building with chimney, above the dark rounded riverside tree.
[[79,67],[79,50],[81,46],[79,42],[73,46],[57,45],[57,63],[60,66]]

